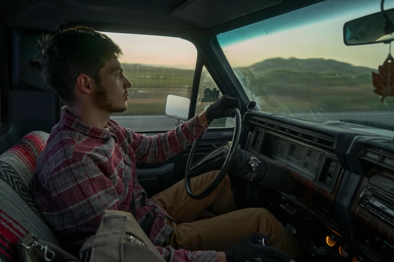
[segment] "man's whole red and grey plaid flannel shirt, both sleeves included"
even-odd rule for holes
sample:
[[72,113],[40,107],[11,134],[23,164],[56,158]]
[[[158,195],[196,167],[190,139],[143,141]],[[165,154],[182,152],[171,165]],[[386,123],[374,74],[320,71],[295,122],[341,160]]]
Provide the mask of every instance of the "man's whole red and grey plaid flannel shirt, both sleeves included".
[[[161,247],[172,232],[169,214],[146,198],[135,174],[137,162],[156,163],[180,153],[206,132],[197,116],[174,130],[146,137],[109,119],[93,127],[62,109],[52,128],[31,183],[31,193],[49,225],[64,240],[80,246],[99,227],[106,209],[131,212],[134,194],[139,224],[152,211],[149,239],[167,261],[216,261],[216,251]],[[72,245],[72,244],[71,244]]]

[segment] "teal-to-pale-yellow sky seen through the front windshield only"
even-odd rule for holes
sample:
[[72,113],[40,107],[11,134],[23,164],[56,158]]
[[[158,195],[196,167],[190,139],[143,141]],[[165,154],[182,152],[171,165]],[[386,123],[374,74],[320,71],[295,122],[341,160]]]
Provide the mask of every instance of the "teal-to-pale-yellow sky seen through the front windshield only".
[[[394,8],[394,1],[385,7]],[[346,46],[345,22],[376,13],[380,0],[325,2],[220,34],[219,43],[232,67],[275,57],[325,58],[377,68],[388,55],[387,44]]]

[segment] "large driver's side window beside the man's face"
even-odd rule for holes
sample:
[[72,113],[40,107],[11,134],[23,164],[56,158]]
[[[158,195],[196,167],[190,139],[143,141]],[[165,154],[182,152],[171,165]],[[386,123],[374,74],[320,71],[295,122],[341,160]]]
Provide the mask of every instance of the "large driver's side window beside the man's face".
[[135,132],[172,130],[177,119],[166,115],[169,94],[190,98],[197,61],[196,47],[183,39],[103,32],[117,43],[128,89],[125,112],[111,118]]

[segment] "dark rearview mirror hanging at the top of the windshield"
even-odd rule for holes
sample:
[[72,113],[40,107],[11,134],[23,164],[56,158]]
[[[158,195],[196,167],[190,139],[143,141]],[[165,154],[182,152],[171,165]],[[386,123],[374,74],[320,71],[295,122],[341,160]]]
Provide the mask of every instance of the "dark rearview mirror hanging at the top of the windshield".
[[[384,11],[391,23],[394,21],[394,9]],[[381,12],[348,21],[343,26],[343,40],[345,45],[367,45],[375,43],[389,43],[394,40],[394,30],[384,33],[386,21]]]

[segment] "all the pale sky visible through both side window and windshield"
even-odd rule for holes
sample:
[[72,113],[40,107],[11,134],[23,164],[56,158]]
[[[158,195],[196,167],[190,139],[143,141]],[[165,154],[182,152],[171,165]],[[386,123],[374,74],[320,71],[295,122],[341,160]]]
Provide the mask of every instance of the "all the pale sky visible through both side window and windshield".
[[[394,8],[394,1],[385,7]],[[380,0],[327,0],[282,16],[220,34],[218,41],[232,67],[275,57],[325,58],[377,68],[388,45],[346,46],[343,24],[380,10]],[[105,32],[104,32],[105,33]],[[123,50],[122,63],[194,69],[195,46],[183,39],[105,33]]]

